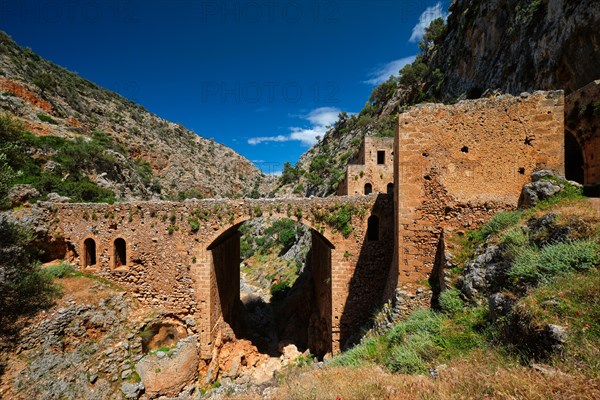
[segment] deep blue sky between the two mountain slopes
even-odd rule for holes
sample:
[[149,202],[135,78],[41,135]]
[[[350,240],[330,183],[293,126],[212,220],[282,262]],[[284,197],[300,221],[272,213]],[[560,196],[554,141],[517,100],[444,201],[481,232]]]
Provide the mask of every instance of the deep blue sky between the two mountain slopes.
[[2,0],[0,29],[273,172],[296,162],[338,111],[359,111],[375,82],[418,52],[419,21],[422,27],[447,6],[448,0]]

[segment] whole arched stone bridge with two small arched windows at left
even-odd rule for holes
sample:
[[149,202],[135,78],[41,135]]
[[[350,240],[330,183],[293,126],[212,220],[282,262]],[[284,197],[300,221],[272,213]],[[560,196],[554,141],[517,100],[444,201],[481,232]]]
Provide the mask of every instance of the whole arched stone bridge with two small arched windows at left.
[[[52,204],[65,259],[143,304],[192,316],[201,356],[240,318],[239,226],[289,218],[311,228],[310,317],[318,355],[337,352],[393,292],[392,196]],[[306,321],[305,321],[306,322]]]

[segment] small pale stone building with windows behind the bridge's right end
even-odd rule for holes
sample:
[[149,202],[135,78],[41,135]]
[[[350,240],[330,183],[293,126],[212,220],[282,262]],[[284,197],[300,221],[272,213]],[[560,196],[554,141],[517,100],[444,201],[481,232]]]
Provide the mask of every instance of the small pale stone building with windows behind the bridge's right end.
[[386,193],[394,191],[394,138],[363,139],[358,154],[346,167],[339,196]]

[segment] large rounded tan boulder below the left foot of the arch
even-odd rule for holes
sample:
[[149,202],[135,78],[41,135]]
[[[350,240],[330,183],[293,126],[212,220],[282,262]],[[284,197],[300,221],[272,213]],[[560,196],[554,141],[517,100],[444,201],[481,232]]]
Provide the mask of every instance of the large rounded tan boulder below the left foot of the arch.
[[188,336],[162,358],[154,353],[144,356],[135,369],[149,397],[176,396],[195,381],[198,362],[197,340]]

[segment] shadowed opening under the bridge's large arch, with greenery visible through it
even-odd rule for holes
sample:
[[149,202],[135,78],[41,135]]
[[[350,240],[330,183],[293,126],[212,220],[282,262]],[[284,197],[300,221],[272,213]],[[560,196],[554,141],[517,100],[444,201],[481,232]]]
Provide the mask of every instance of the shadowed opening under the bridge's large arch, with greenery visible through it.
[[279,356],[287,344],[331,351],[331,249],[314,229],[258,217],[221,234],[212,253],[214,301],[235,337]]

